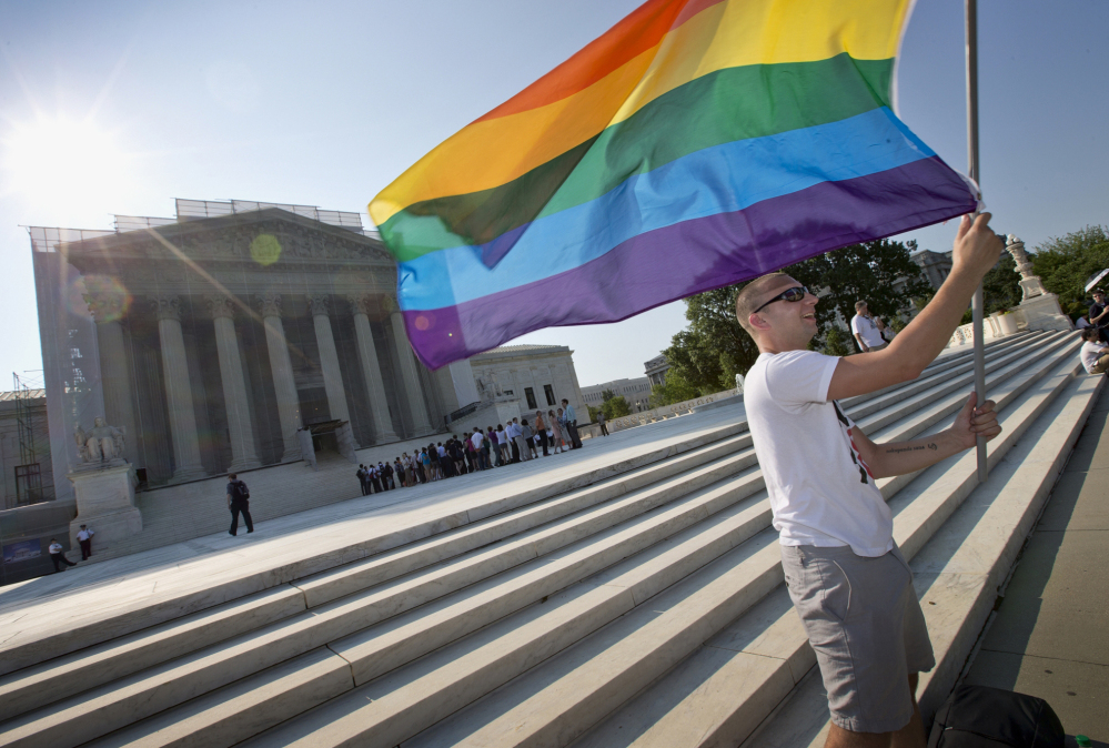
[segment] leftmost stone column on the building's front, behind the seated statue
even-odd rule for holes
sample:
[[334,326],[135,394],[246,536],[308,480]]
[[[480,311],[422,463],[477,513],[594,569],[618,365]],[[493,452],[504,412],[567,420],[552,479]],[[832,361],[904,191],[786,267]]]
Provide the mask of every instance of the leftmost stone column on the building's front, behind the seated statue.
[[131,400],[131,371],[123,346],[123,314],[121,294],[92,292],[84,301],[97,321],[97,347],[100,351],[100,382],[104,391],[104,418],[123,427],[127,435],[124,457],[132,465],[138,455],[139,434],[135,428],[134,406]]

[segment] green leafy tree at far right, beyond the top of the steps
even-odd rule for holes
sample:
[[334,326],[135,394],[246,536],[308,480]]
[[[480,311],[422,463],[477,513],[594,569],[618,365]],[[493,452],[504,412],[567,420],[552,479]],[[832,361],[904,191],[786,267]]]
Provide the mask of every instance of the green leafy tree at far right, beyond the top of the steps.
[[1032,270],[1044,286],[1059,296],[1062,311],[1072,319],[1089,307],[1086,281],[1109,267],[1109,235],[1105,226],[1086,226],[1059,239],[1049,239],[1036,247]]

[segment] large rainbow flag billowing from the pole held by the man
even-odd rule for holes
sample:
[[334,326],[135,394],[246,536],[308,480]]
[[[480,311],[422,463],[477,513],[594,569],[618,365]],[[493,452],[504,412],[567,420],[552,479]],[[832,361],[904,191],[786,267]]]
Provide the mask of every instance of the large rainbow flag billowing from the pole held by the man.
[[911,0],[648,0],[370,203],[431,367],[971,212],[891,111]]

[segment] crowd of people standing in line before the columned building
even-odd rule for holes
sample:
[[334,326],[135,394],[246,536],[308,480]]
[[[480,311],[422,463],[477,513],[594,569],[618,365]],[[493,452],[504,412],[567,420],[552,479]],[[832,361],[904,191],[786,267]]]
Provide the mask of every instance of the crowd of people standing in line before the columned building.
[[577,433],[577,414],[569,401],[563,400],[555,411],[536,411],[532,422],[513,418],[472,434],[451,435],[446,442],[431,443],[410,455],[405,452],[392,463],[359,465],[357,478],[362,495],[393,491],[420,483],[503,467],[542,456],[582,448]]

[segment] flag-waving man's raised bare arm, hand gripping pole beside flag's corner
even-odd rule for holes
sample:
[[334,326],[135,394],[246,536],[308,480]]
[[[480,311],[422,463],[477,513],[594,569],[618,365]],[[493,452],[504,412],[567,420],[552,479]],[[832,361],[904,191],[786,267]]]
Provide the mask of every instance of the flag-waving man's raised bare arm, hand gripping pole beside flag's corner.
[[1001,254],[1001,240],[989,228],[989,213],[982,213],[971,223],[969,216],[962,216],[955,237],[951,274],[936,296],[888,347],[840,358],[828,387],[829,401],[914,380],[939,355],[978,283]]

